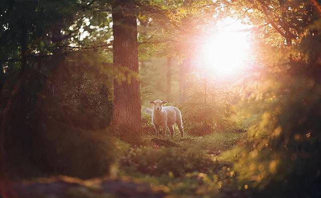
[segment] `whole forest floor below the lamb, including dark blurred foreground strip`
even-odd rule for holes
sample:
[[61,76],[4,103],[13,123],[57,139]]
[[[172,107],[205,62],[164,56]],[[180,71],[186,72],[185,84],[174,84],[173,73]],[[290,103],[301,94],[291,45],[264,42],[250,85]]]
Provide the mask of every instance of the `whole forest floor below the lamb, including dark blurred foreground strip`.
[[81,180],[53,177],[16,183],[16,197],[248,197],[232,162],[221,155],[244,133],[214,133],[174,140],[145,136],[144,145],[115,141],[117,168],[112,177]]

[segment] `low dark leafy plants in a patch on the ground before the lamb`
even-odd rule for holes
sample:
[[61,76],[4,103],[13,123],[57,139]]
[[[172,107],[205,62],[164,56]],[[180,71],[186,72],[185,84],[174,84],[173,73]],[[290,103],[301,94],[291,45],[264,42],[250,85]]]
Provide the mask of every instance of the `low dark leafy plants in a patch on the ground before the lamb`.
[[212,160],[204,152],[199,150],[180,150],[181,148],[164,148],[155,146],[150,149],[146,146],[132,148],[121,159],[121,165],[148,175],[159,176],[173,174],[182,176],[188,172],[213,173],[218,170],[220,164]]

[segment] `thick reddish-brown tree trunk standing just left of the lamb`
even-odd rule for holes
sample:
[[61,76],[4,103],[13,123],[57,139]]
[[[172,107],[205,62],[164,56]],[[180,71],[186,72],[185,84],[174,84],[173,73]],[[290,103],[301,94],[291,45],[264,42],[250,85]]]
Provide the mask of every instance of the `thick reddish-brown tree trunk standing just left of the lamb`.
[[[138,74],[137,18],[133,1],[115,1],[112,5],[113,62]],[[127,73],[128,74],[128,73]],[[126,75],[127,76],[127,75]],[[114,80],[114,111],[112,124],[120,133],[141,127],[140,90],[133,77]],[[128,130],[127,130],[128,129]]]

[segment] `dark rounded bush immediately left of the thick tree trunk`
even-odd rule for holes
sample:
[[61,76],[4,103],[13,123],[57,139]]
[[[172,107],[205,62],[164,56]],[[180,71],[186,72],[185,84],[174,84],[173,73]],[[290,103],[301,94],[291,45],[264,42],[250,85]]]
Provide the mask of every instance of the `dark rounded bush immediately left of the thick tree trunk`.
[[[95,57],[96,61],[87,61],[89,56]],[[41,101],[41,105],[48,106],[52,114],[57,112],[50,108],[51,105],[61,106],[66,115],[60,120],[68,120],[76,127],[103,129],[109,124],[112,113],[112,94],[108,88],[111,86],[110,74],[105,72],[104,65],[99,65],[98,56],[82,53],[81,57],[78,60],[77,54],[65,56],[56,66],[40,95],[48,104]]]

